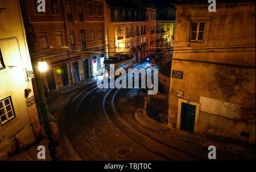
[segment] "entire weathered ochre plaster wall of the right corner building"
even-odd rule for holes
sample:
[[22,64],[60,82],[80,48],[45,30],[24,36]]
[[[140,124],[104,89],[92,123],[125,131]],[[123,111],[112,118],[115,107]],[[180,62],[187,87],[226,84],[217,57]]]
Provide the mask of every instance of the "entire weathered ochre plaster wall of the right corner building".
[[[192,21],[205,22],[203,42],[189,40]],[[170,127],[179,126],[179,90],[200,105],[195,133],[255,143],[255,3],[176,5],[172,70],[183,79],[170,81]]]

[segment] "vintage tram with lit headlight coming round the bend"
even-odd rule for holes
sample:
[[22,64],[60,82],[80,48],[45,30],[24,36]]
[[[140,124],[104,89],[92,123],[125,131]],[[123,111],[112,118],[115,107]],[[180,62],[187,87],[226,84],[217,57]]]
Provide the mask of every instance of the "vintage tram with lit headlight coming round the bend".
[[133,68],[133,56],[130,54],[115,54],[114,57],[104,59],[104,66],[108,71],[108,74],[105,74],[104,78],[109,78],[110,70],[115,72],[118,68],[123,68],[127,71],[129,68]]

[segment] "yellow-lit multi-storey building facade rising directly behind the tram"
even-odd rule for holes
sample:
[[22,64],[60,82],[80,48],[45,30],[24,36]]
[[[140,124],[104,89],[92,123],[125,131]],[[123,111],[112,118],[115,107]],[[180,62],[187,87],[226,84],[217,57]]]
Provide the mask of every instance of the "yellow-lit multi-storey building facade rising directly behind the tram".
[[152,7],[117,7],[107,5],[107,56],[117,53],[133,55],[134,62],[155,51],[156,10]]

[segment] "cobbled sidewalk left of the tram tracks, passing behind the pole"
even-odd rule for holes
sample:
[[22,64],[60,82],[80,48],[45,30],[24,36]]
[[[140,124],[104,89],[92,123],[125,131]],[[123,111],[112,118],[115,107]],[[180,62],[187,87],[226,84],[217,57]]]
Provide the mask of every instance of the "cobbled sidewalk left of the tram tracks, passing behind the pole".
[[[49,93],[48,108],[51,115],[51,121],[58,124],[60,129],[60,139],[57,147],[55,147],[57,152],[58,160],[69,161],[77,160],[81,161],[81,158],[73,150],[72,145],[69,143],[67,134],[65,134],[64,128],[64,110],[67,106],[69,99],[76,95],[80,88],[86,87],[88,84],[92,84],[94,79],[70,85],[67,88],[60,89],[58,91],[52,91]],[[57,108],[56,108],[57,107]],[[46,148],[46,160],[39,160],[37,157],[38,146],[44,145]],[[50,161],[48,144],[46,138],[40,138],[36,143],[29,145],[27,148],[15,152],[6,158],[7,161]]]

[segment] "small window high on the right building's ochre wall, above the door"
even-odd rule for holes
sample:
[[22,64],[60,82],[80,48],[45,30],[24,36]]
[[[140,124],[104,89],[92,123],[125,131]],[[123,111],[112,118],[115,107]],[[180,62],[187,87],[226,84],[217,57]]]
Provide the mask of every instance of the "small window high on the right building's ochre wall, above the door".
[[204,22],[192,22],[191,26],[191,41],[204,41]]

